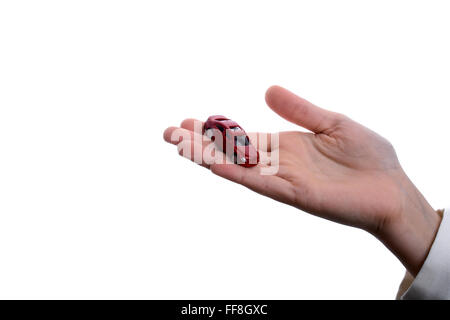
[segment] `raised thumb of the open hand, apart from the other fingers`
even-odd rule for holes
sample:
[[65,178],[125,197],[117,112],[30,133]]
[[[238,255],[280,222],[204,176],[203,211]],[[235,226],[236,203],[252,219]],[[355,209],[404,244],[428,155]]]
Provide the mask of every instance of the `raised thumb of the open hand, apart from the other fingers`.
[[267,90],[266,102],[281,117],[315,133],[332,129],[342,120],[340,114],[319,108],[279,86]]

